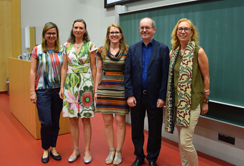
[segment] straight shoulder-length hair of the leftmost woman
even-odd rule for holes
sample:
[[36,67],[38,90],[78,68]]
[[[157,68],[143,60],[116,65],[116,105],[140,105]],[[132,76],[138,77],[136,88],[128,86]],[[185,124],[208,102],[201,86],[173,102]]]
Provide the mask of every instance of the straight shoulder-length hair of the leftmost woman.
[[44,25],[43,30],[42,30],[42,52],[47,53],[47,41],[45,38],[45,34],[46,32],[51,29],[51,28],[55,28],[57,31],[57,39],[55,41],[55,48],[54,48],[54,52],[59,52],[60,51],[60,40],[59,40],[59,30],[56,24],[54,24],[53,22],[48,22]]

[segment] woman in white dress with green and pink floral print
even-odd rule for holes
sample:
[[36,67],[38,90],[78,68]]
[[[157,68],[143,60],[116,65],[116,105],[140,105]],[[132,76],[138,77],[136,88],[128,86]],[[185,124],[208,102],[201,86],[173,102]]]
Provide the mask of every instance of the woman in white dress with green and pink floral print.
[[63,98],[63,116],[70,118],[74,150],[69,162],[80,156],[79,118],[83,123],[85,139],[84,162],[92,160],[90,153],[91,122],[94,116],[93,81],[96,78],[96,46],[89,39],[86,23],[75,20],[68,42],[64,44],[60,97]]

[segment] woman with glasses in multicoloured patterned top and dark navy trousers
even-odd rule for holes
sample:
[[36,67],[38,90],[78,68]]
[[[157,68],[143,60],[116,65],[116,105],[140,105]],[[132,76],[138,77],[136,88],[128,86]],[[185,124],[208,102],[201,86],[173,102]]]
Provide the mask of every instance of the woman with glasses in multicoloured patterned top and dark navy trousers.
[[36,104],[41,122],[41,141],[44,150],[42,162],[47,163],[50,155],[61,160],[56,150],[59,118],[63,100],[59,97],[63,53],[56,24],[48,22],[42,31],[42,43],[31,52],[30,100]]

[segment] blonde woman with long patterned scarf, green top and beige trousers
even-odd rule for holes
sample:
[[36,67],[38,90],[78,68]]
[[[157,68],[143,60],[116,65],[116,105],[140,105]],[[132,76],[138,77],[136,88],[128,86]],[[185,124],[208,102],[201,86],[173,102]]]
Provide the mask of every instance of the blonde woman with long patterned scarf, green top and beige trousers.
[[195,26],[186,18],[176,24],[171,43],[165,130],[173,133],[176,123],[182,166],[198,166],[192,137],[199,115],[208,112],[208,58],[198,45]]

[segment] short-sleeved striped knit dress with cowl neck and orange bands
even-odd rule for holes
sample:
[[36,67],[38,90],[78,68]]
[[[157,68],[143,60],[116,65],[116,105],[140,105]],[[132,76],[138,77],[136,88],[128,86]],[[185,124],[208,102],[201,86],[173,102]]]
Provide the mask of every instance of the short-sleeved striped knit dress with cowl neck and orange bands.
[[96,53],[96,58],[103,62],[103,73],[98,84],[95,111],[105,114],[128,114],[124,88],[125,51],[119,50],[116,55],[108,51],[105,59],[101,57],[102,51],[103,47],[100,47]]

